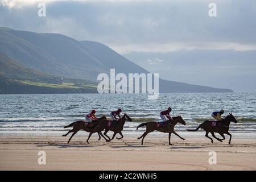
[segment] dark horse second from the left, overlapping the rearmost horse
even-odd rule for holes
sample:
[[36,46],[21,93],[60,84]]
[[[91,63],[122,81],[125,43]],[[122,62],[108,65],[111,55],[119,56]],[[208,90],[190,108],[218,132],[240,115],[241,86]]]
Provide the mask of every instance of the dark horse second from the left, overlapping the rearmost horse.
[[115,135],[117,133],[119,133],[121,135],[121,137],[120,138],[116,138],[116,139],[119,140],[119,139],[123,138],[122,130],[123,130],[123,126],[125,125],[125,121],[130,121],[131,122],[131,121],[133,121],[133,119],[131,119],[129,117],[129,115],[127,115],[125,113],[122,118],[118,119],[118,121],[115,121],[114,126],[109,126],[108,125],[108,126],[105,127],[104,135],[106,137],[108,137],[107,133],[108,133],[109,130],[114,132],[112,139],[110,139],[108,137],[109,138],[109,142],[114,139],[114,137],[115,137]]

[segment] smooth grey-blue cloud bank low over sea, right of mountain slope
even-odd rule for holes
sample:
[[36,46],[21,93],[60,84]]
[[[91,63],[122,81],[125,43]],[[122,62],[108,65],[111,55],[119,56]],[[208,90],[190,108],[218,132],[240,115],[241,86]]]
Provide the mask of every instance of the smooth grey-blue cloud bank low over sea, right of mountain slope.
[[[230,88],[236,92],[256,91],[256,51],[131,52],[123,56],[166,80]],[[153,57],[164,61],[149,64]]]

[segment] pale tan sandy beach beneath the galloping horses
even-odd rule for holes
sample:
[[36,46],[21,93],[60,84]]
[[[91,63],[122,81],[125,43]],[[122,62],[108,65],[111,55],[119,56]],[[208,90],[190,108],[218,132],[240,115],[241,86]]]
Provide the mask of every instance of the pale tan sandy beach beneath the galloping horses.
[[[97,137],[0,137],[0,170],[256,170],[254,139],[236,139],[231,146],[208,139],[148,137],[141,146],[137,138]],[[46,152],[46,165],[38,164],[38,152]],[[217,164],[209,164],[209,152]]]

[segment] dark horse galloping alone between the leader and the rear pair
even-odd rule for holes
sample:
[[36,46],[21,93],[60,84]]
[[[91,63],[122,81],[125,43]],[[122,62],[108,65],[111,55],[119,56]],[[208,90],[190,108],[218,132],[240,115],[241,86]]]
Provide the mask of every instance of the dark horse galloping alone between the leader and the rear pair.
[[[139,125],[137,127],[137,130],[139,127],[143,127],[143,126],[147,126],[146,127],[146,132],[143,133],[143,135],[141,135],[141,137],[139,137],[138,139],[141,139],[142,137],[142,141],[141,144],[143,144],[143,140],[146,137],[146,135],[148,133],[151,133],[152,131],[156,130],[156,131],[160,131],[163,133],[169,133],[169,144],[171,145],[171,134],[174,133],[175,135],[177,135],[177,137],[181,138],[175,131],[174,131],[174,126],[177,123],[181,123],[183,125],[186,125],[185,121],[183,120],[183,118],[179,115],[177,117],[173,117],[172,121],[167,121],[167,126],[159,126],[158,122],[148,122],[148,123],[142,123],[141,125]],[[185,140],[184,138],[181,138],[183,140]]]

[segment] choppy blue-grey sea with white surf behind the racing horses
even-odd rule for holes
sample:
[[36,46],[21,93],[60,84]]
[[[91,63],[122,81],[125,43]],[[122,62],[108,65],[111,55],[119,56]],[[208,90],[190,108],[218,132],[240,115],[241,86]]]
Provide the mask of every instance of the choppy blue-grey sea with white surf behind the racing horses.
[[[109,117],[110,111],[121,108],[132,122],[126,122],[123,135],[138,137],[142,122],[161,121],[159,113],[172,107],[172,116],[181,115],[187,125],[177,123],[175,130],[181,137],[204,137],[205,132],[189,132],[205,120],[212,119],[213,111],[233,113],[238,123],[230,123],[234,138],[256,139],[256,93],[160,93],[157,100],[147,94],[1,94],[0,136],[61,136],[63,127],[85,119],[90,110]],[[94,134],[97,136],[97,134]],[[111,135],[111,133],[110,133]],[[149,134],[163,137],[154,131]],[[77,136],[88,136],[79,131]],[[175,136],[176,137],[176,136]]]

